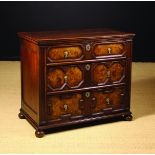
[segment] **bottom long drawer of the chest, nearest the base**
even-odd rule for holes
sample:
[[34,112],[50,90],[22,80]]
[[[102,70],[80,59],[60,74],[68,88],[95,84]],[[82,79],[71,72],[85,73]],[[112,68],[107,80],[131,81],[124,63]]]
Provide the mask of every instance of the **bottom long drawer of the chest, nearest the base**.
[[106,115],[127,106],[125,98],[125,86],[50,95],[47,98],[48,119],[69,120]]

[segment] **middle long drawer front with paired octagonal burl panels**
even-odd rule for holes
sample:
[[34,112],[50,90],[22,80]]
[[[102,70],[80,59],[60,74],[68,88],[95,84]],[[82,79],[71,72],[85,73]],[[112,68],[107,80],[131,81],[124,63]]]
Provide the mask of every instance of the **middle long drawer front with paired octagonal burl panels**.
[[50,67],[48,92],[121,83],[125,80],[126,61],[109,61]]

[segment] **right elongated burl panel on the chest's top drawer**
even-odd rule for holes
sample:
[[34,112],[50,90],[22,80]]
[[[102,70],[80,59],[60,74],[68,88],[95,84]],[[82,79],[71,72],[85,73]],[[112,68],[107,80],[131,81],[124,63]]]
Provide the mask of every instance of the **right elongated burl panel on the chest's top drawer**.
[[93,50],[93,55],[95,57],[122,56],[125,53],[125,50],[125,45],[121,43],[98,44]]

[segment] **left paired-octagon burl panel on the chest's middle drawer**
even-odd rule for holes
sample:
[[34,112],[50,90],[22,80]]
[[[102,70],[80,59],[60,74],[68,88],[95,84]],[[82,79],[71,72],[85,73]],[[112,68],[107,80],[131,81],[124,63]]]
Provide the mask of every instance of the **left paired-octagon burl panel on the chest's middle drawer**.
[[84,79],[84,71],[81,66],[53,67],[48,71],[48,87],[51,90],[66,88],[78,88]]

